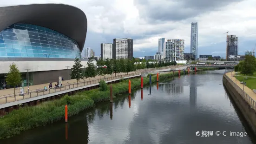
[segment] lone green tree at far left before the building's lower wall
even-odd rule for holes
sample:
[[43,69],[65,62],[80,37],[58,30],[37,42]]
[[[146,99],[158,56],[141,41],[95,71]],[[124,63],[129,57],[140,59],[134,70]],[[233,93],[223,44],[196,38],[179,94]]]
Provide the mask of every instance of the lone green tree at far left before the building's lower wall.
[[14,95],[15,95],[15,86],[20,85],[20,83],[22,82],[22,79],[21,79],[20,71],[14,63],[10,65],[10,71],[7,74],[6,82],[8,85],[13,86]]

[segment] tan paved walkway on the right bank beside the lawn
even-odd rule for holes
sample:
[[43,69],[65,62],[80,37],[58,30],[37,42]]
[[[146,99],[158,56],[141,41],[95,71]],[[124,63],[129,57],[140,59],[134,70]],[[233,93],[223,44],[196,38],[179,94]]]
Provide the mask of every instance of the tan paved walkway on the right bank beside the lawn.
[[[231,76],[231,72],[227,72],[226,75],[232,79],[232,81],[234,83],[236,83],[236,85],[238,85],[242,90],[243,90],[243,84],[240,84],[240,81],[236,79],[236,77],[233,77],[233,75],[235,75],[235,72],[232,72],[232,76]],[[247,93],[247,95],[249,95],[254,101],[256,101],[256,93],[253,92],[251,89],[249,89],[249,87],[244,85],[244,92]],[[256,103],[254,103],[254,106],[256,105]]]

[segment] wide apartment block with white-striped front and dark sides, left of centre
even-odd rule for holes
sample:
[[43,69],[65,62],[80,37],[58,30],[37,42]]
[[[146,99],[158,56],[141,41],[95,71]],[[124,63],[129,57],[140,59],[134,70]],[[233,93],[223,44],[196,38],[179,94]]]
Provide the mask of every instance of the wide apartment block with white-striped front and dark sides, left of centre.
[[114,39],[113,40],[113,59],[133,58],[133,39]]

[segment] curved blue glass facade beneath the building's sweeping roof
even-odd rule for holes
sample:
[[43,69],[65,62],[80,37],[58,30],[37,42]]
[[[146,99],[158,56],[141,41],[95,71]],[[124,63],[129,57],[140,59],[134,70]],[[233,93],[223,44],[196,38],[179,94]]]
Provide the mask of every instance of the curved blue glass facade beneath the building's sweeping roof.
[[0,57],[81,59],[76,40],[52,29],[13,24],[0,32]]

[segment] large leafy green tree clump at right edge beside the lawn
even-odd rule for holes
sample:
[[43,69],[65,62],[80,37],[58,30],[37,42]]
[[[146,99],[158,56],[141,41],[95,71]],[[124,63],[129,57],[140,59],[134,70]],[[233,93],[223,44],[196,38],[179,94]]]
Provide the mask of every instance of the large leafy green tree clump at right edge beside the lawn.
[[235,72],[241,72],[244,75],[252,76],[256,71],[256,58],[252,52],[245,52],[245,59],[235,66]]

